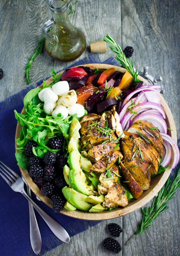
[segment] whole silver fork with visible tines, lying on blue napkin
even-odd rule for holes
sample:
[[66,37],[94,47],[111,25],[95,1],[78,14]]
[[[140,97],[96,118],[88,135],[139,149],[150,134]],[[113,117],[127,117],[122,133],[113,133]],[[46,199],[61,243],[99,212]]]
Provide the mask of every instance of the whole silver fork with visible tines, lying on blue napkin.
[[7,165],[0,161],[0,175],[7,182],[7,184],[14,190],[15,192],[22,193],[29,202],[32,203],[34,208],[38,211],[41,217],[44,219],[50,230],[64,243],[68,243],[70,241],[70,237],[67,231],[54,219],[52,219],[46,212],[44,212],[25,192],[24,190],[24,182],[18,174],[16,174],[12,169],[10,169]]

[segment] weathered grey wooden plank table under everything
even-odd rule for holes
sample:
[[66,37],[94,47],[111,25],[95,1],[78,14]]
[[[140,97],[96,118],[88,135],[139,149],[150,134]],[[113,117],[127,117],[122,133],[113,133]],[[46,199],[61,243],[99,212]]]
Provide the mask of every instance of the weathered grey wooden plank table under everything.
[[[51,18],[47,2],[1,0],[0,68],[4,70],[4,78],[0,80],[0,101],[27,86],[25,66],[41,38],[42,24]],[[88,55],[91,42],[102,40],[106,34],[111,35],[123,49],[132,46],[134,66],[143,71],[147,65],[151,75],[163,77],[160,84],[173,113],[179,138],[180,7],[177,1],[80,0],[74,8],[76,12],[70,20],[83,30],[87,41],[87,48],[79,59]],[[106,53],[99,54],[101,61],[114,56],[109,48]],[[73,62],[54,61],[44,52],[32,63],[31,82],[35,85],[48,77],[52,67],[61,70],[71,64]],[[118,239],[122,245],[121,255],[179,255],[179,196],[180,190],[176,198],[168,202],[169,209],[154,221],[154,227],[134,238],[128,246],[125,242],[140,224],[141,210],[103,221],[72,237],[69,244],[62,244],[44,255],[113,255],[102,246],[104,238],[109,236],[107,224],[111,222],[123,228]]]

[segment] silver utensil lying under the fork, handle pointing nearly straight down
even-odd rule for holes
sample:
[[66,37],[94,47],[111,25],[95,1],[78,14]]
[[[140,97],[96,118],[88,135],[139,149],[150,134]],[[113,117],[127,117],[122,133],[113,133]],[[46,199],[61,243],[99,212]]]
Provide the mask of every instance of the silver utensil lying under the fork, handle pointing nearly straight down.
[[[26,184],[26,181],[24,180],[23,176],[22,176],[22,180]],[[28,186],[28,184],[26,184],[26,187],[27,187],[28,196],[31,198],[31,189]],[[34,253],[38,255],[41,251],[42,240],[41,240],[41,234],[39,231],[38,223],[36,220],[35,211],[30,202],[29,202],[29,227],[30,227],[31,247]]]

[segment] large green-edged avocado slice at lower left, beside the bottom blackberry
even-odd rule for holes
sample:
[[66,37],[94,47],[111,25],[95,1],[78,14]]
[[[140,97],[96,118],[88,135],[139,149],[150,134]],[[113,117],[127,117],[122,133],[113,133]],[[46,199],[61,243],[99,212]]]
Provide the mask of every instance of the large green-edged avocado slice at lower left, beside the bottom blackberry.
[[62,193],[67,201],[79,210],[88,211],[93,206],[93,204],[85,202],[87,196],[77,192],[73,188],[65,186],[62,188]]

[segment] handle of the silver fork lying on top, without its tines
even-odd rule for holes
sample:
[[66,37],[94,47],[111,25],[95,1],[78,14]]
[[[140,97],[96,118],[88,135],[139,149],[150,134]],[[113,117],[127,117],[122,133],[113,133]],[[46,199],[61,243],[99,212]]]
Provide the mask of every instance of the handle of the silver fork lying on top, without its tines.
[[67,233],[67,231],[54,219],[52,219],[46,212],[44,212],[25,192],[25,190],[21,191],[22,195],[28,199],[30,203],[34,206],[36,211],[41,215],[41,217],[44,219],[52,233],[57,236],[58,239],[60,239],[64,243],[68,243],[70,241],[70,237]]

